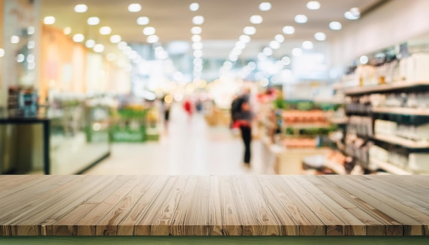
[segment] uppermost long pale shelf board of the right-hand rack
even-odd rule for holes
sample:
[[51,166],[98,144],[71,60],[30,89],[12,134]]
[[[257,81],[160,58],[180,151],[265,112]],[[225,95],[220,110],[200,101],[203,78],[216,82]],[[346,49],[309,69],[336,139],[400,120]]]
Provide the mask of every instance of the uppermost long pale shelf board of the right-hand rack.
[[406,88],[415,88],[419,86],[429,86],[429,81],[398,81],[379,86],[357,87],[345,90],[346,95],[369,94],[374,92],[389,92],[392,90],[402,90]]

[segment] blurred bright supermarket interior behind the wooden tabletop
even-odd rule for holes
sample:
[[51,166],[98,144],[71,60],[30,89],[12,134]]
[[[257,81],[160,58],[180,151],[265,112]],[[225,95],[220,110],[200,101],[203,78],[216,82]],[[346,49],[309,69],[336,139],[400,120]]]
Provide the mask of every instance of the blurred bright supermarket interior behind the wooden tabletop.
[[0,0],[0,174],[427,174],[428,9]]

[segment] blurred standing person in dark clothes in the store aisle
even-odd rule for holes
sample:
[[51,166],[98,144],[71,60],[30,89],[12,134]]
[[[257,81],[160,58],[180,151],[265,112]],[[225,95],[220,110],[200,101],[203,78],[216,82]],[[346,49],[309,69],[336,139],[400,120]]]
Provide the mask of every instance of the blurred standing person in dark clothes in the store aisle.
[[238,127],[241,131],[241,138],[245,146],[244,164],[250,165],[250,144],[252,142],[252,120],[254,114],[248,100],[241,103],[241,111],[236,113],[234,127]]

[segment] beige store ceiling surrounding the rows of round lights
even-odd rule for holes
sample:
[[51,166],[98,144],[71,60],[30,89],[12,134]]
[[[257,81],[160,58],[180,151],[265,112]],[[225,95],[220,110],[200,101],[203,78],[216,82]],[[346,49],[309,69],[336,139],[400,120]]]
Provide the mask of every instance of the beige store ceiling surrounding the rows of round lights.
[[[329,29],[328,24],[331,21],[339,21],[343,24],[343,29],[347,29],[352,21],[345,19],[346,11],[357,7],[361,16],[365,16],[367,12],[385,1],[319,0],[321,3],[319,10],[308,10],[306,8],[308,1],[271,0],[271,10],[261,12],[258,5],[262,1],[250,0],[42,0],[42,17],[55,16],[54,26],[61,29],[71,27],[71,35],[81,33],[97,42],[108,42],[108,36],[101,36],[98,31],[99,27],[108,25],[112,28],[112,34],[119,34],[128,44],[135,44],[146,43],[147,37],[143,34],[145,26],[137,25],[136,19],[139,16],[147,16],[150,20],[148,26],[156,28],[159,42],[167,45],[177,40],[191,42],[192,18],[201,15],[205,19],[201,25],[203,58],[219,57],[226,60],[236,41],[243,34],[243,27],[252,25],[249,18],[254,14],[262,16],[263,22],[253,25],[256,27],[256,34],[243,50],[243,55],[247,57],[256,57],[275,35],[282,34],[285,25],[294,26],[295,34],[282,34],[285,41],[275,52],[290,53],[289,49],[301,44],[303,40],[315,42],[315,49],[323,47],[323,43],[329,42],[340,32]],[[193,2],[199,3],[199,10],[196,12],[189,10],[189,5]],[[74,12],[74,6],[78,3],[88,5],[88,11]],[[127,6],[130,3],[140,3],[142,10],[129,12]],[[295,23],[294,16],[297,14],[308,16],[308,23]],[[98,16],[101,23],[89,26],[86,20],[90,16]],[[313,36],[318,31],[326,34],[325,42],[314,40]]]

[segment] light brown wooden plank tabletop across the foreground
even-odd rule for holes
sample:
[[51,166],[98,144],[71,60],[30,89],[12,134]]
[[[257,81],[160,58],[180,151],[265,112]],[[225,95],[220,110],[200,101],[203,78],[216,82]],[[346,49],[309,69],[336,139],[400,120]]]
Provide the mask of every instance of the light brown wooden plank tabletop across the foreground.
[[0,175],[0,235],[429,235],[429,176]]

